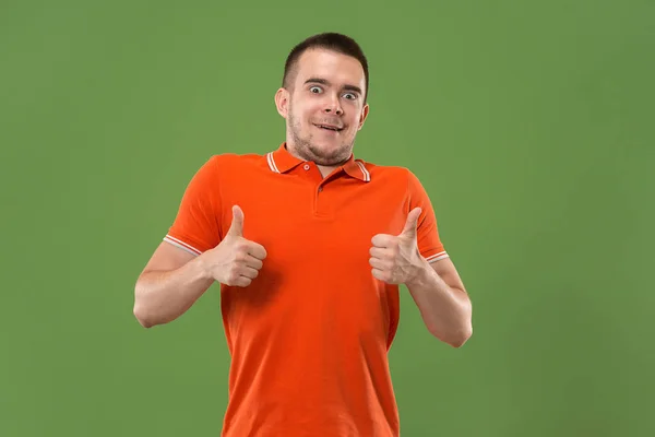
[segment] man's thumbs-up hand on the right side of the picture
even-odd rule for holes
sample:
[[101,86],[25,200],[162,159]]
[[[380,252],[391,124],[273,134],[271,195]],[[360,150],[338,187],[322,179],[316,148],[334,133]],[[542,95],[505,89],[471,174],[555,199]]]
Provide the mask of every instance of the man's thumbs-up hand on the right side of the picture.
[[416,228],[420,212],[420,208],[409,212],[400,235],[378,234],[371,239],[369,263],[376,279],[388,284],[405,284],[419,271],[421,257]]

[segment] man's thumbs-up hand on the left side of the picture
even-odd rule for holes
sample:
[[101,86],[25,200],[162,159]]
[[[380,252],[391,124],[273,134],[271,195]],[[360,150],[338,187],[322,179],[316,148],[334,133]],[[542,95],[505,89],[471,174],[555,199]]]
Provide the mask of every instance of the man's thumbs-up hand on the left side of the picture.
[[243,211],[233,206],[233,222],[218,246],[204,253],[205,269],[217,282],[246,287],[259,275],[266,249],[243,238]]

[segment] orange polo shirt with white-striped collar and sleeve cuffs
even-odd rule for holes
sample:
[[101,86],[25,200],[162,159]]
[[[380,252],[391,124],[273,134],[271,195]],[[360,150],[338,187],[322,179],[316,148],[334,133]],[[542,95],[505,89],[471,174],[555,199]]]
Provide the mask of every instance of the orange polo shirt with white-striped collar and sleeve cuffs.
[[432,205],[402,167],[350,160],[323,178],[283,143],[265,155],[212,156],[164,238],[191,253],[217,246],[243,211],[243,237],[267,258],[246,288],[222,284],[231,355],[224,437],[395,437],[388,352],[398,286],[373,277],[371,238],[397,235],[422,208],[418,247],[448,257]]

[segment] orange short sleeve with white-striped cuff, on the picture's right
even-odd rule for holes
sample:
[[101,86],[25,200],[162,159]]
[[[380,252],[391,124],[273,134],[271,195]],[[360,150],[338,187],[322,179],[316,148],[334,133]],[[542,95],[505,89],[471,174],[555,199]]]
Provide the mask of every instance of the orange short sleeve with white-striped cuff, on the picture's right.
[[449,255],[439,237],[439,228],[437,226],[437,215],[432,208],[432,202],[428,197],[420,180],[408,170],[407,181],[407,213],[415,208],[420,208],[421,213],[418,217],[417,226],[417,244],[420,255],[428,261],[433,262]]

